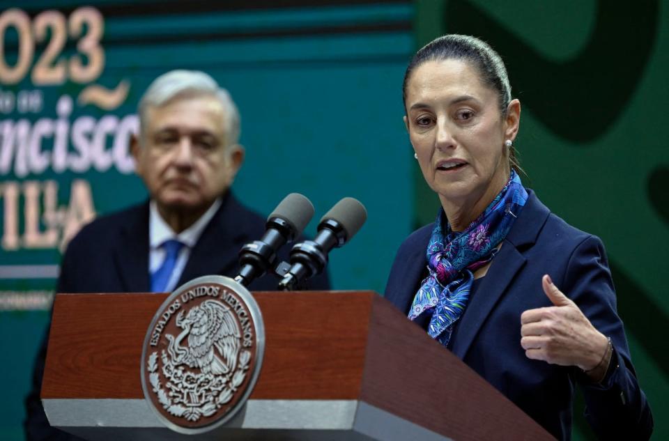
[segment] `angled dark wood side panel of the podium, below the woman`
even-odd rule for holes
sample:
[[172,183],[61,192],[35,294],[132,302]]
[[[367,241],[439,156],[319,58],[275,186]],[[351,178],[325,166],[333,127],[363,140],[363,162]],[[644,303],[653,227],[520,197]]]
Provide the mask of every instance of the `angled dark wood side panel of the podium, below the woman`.
[[361,398],[454,440],[553,440],[486,380],[374,299]]

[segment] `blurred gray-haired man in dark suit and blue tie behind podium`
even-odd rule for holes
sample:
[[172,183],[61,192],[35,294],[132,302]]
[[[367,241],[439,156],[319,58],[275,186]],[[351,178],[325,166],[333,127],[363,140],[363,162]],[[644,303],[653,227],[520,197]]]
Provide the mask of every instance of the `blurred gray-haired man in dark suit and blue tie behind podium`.
[[[96,219],[72,239],[59,293],[164,292],[206,274],[233,277],[239,249],[265,231],[265,219],[229,191],[244,159],[240,118],[214,79],[186,70],[158,77],[139,102],[139,121],[132,155],[151,199]],[[249,289],[275,290],[277,283],[266,275]],[[310,288],[329,289],[327,276]],[[51,428],[44,415],[45,355],[46,340],[26,399],[26,437],[76,439]]]

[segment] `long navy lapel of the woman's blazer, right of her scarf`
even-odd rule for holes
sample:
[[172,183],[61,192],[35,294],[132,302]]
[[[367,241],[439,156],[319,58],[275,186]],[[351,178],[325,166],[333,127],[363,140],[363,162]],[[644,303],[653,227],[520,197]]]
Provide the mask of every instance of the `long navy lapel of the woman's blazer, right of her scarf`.
[[509,284],[525,265],[526,259],[522,252],[526,247],[534,245],[537,235],[551,213],[532,190],[528,190],[528,194],[525,207],[518,215],[507,238],[502,242],[499,254],[495,256],[488,273],[477,288],[477,293],[467,306],[467,314],[463,316],[463,321],[459,325],[452,352],[460,359],[467,355],[467,350],[495,308],[495,304],[507,292]]

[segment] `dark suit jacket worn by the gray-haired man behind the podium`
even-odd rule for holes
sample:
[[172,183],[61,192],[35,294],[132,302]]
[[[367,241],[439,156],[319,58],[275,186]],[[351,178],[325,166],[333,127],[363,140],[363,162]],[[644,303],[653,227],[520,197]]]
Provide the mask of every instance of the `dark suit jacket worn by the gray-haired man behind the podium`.
[[[72,239],[61,263],[57,293],[123,293],[151,291],[148,274],[148,202],[95,219]],[[234,277],[238,252],[259,240],[266,220],[242,206],[228,192],[221,207],[193,247],[177,286],[207,274]],[[279,252],[288,260],[290,246]],[[266,274],[248,287],[250,291],[275,291],[279,280]],[[309,281],[309,289],[328,290],[327,274]],[[48,334],[36,358],[33,385],[26,397],[24,428],[28,440],[77,440],[58,431],[46,419],[40,401]]]

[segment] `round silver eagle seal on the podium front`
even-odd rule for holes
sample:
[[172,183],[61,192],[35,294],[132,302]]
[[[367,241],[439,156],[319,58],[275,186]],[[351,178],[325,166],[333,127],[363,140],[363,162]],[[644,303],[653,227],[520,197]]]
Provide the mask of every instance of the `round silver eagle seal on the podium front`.
[[242,408],[260,373],[265,330],[251,293],[229,277],[204,276],[171,293],[141,352],[141,388],[158,419],[203,433]]

